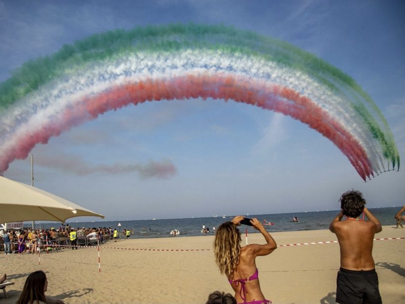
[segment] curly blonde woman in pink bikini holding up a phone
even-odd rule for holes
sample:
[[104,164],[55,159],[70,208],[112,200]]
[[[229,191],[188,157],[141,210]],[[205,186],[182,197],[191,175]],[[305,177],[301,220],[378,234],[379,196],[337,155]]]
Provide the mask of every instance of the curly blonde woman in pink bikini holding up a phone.
[[267,256],[276,248],[277,244],[266,231],[263,224],[253,218],[250,223],[263,234],[267,244],[251,244],[241,247],[241,232],[237,228],[242,216],[232,221],[224,222],[216,230],[214,241],[214,255],[216,263],[225,274],[235,291],[235,299],[241,304],[269,304],[260,289],[256,257]]

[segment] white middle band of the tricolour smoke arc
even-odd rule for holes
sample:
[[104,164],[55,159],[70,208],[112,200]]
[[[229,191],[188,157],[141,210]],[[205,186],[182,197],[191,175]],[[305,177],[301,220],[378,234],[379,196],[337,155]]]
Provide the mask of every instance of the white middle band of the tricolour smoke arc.
[[362,120],[356,120],[357,114],[350,100],[342,98],[308,75],[277,63],[259,57],[211,50],[186,50],[175,54],[140,52],[67,70],[60,78],[15,103],[0,117],[0,155],[14,145],[16,138],[21,138],[28,130],[55,121],[66,107],[74,108],[86,96],[99,94],[109,87],[146,79],[171,79],[206,71],[289,87],[302,93],[336,118],[361,142],[373,168],[379,169],[381,148],[375,145]]

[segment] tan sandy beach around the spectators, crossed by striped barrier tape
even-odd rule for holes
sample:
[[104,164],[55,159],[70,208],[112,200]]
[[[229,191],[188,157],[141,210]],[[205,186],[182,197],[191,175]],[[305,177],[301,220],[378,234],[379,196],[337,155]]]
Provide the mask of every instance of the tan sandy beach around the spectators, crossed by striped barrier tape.
[[[272,233],[278,245],[336,241],[329,230]],[[404,237],[405,229],[383,226],[376,238]],[[242,237],[245,244],[245,235]],[[18,299],[25,279],[35,270],[48,277],[48,296],[66,303],[205,303],[209,293],[232,293],[214,262],[213,235],[159,239],[129,239],[97,248],[64,249],[36,255],[3,255],[0,273],[7,273],[8,299]],[[249,234],[248,243],[263,243]],[[383,303],[405,303],[405,240],[377,240],[373,250]],[[322,243],[281,246],[256,260],[261,288],[274,304],[335,303],[339,245]]]

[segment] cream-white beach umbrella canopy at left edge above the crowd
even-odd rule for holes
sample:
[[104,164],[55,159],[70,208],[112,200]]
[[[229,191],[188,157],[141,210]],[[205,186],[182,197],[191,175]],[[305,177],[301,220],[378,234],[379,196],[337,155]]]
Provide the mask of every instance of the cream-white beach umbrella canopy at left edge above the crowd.
[[102,217],[61,197],[0,176],[0,223],[25,220],[65,222],[70,217]]

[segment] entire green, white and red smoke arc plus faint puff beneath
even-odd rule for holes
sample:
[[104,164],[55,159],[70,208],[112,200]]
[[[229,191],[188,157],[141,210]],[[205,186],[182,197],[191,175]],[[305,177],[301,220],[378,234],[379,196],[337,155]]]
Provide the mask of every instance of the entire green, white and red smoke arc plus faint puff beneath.
[[[336,67],[252,32],[174,24],[93,35],[17,69],[0,84],[0,174],[36,144],[107,111],[195,98],[243,102],[299,120],[332,141],[364,180],[400,168],[381,111]],[[126,170],[159,175],[149,167]]]

